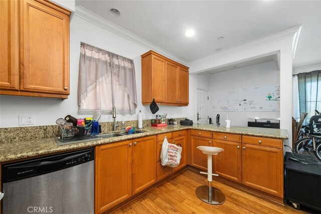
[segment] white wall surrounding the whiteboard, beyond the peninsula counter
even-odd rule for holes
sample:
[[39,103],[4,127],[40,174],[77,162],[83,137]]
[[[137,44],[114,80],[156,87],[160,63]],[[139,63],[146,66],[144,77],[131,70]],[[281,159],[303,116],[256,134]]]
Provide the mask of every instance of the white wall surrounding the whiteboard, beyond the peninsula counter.
[[254,65],[237,70],[226,71],[210,76],[210,118],[213,124],[216,122],[216,115],[220,114],[221,125],[225,124],[226,115],[231,120],[231,126],[247,126],[249,118],[277,119],[279,112],[222,112],[214,111],[213,97],[218,91],[249,88],[265,85],[280,85],[280,74],[274,62],[261,65]]

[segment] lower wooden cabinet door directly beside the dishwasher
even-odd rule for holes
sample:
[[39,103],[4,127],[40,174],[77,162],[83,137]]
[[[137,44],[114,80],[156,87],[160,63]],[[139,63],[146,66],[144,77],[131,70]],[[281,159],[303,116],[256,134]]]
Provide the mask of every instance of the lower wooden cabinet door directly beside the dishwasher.
[[132,145],[105,144],[95,152],[95,213],[100,213],[131,196]]

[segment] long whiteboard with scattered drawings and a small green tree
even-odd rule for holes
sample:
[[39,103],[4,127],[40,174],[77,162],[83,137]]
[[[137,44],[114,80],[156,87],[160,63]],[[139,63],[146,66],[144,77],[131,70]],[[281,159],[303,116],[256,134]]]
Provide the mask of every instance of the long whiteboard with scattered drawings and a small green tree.
[[280,86],[214,91],[211,110],[215,112],[279,112]]

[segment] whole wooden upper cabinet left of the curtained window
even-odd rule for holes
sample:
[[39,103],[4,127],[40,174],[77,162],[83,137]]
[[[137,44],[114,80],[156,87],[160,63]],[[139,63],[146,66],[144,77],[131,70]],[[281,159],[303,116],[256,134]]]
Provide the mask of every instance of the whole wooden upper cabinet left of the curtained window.
[[[1,1],[1,6],[6,2]],[[5,31],[9,29],[11,33],[8,35],[11,42],[5,45],[6,42],[1,41],[1,47],[8,46],[8,50],[14,53],[9,57],[6,50],[1,55],[1,59],[10,60],[8,66],[1,64],[0,94],[67,98],[71,12],[45,0],[8,1],[7,3],[10,7],[17,7],[17,10],[9,10],[13,14],[10,14],[10,19],[1,34],[7,35],[8,32]],[[3,10],[5,9],[1,7],[1,12]],[[6,19],[1,20],[3,24]],[[20,55],[16,56],[19,52]],[[20,75],[18,75],[19,68],[15,69],[16,66],[13,65],[14,62],[18,65],[20,62]]]

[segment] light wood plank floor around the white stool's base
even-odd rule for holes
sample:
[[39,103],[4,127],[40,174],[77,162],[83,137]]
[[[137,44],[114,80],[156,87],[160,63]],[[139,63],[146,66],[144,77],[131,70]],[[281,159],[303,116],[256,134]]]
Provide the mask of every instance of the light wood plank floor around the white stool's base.
[[214,181],[226,196],[225,203],[210,205],[195,194],[196,187],[207,185],[207,178],[191,170],[175,175],[161,185],[114,211],[122,213],[309,213],[289,205],[279,205],[226,184]]

